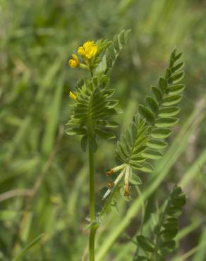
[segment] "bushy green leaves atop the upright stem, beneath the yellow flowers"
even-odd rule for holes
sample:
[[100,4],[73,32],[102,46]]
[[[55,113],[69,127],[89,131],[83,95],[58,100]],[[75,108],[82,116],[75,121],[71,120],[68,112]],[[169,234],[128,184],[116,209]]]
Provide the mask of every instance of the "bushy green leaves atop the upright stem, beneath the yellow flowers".
[[95,63],[100,58],[102,60],[95,72],[92,72],[92,78],[80,80],[76,86],[77,98],[71,105],[71,119],[67,123],[66,133],[68,135],[82,135],[81,146],[84,151],[88,139],[92,151],[95,152],[97,137],[115,138],[114,128],[118,124],[111,121],[111,116],[119,114],[121,111],[116,109],[118,101],[111,98],[114,90],[108,87],[109,75],[117,56],[126,43],[128,32],[129,30],[123,30],[119,35],[114,36],[113,41],[98,42],[99,52]]

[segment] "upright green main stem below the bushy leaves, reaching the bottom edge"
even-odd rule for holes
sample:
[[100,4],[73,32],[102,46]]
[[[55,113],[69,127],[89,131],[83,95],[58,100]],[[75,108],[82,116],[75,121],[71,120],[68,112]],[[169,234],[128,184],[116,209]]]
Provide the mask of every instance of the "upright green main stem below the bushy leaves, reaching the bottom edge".
[[94,154],[89,144],[89,162],[90,162],[90,261],[95,261],[95,234],[97,231],[96,215],[95,215],[95,168]]

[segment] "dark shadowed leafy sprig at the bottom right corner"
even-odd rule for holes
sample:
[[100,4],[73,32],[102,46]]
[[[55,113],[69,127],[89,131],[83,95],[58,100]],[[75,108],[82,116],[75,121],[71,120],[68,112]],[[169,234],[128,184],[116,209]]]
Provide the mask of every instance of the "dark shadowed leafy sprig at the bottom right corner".
[[136,237],[137,248],[145,255],[136,251],[134,261],[164,261],[176,248],[174,237],[178,232],[178,217],[186,204],[186,195],[181,188],[175,186],[166,200],[163,210],[156,214],[157,220],[150,238],[139,235]]

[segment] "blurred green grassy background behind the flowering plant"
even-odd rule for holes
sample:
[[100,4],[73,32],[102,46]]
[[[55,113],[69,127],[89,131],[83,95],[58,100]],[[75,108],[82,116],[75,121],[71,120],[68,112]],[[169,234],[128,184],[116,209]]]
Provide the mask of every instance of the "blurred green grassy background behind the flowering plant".
[[[157,162],[168,175],[156,197],[162,202],[172,184],[182,182],[188,202],[181,228],[188,231],[175,255],[199,245],[186,260],[206,260],[205,18],[205,0],[0,0],[0,260],[11,260],[40,233],[43,240],[23,260],[87,260],[87,154],[80,138],[64,133],[68,91],[87,72],[68,68],[68,59],[86,40],[111,39],[127,28],[128,46],[111,79],[123,109],[118,137],[164,73],[172,49],[183,51],[186,91],[169,143],[179,139],[166,152],[172,160]],[[102,142],[96,153],[97,191],[114,166],[114,148],[115,141]],[[119,200],[119,214],[112,212],[99,229],[97,252],[130,205]],[[132,260],[128,235],[138,231],[139,218],[104,260]]]

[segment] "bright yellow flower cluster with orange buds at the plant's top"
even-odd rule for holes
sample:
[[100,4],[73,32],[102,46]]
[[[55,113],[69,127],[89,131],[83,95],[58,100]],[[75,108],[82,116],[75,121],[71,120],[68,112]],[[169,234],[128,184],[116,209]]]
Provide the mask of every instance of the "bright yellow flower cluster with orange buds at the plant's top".
[[83,58],[84,63],[80,63],[78,56],[72,54],[72,59],[68,61],[68,65],[71,68],[87,68],[92,67],[92,58],[96,56],[98,51],[97,44],[94,41],[87,41],[83,44],[83,47],[78,48],[78,54]]

